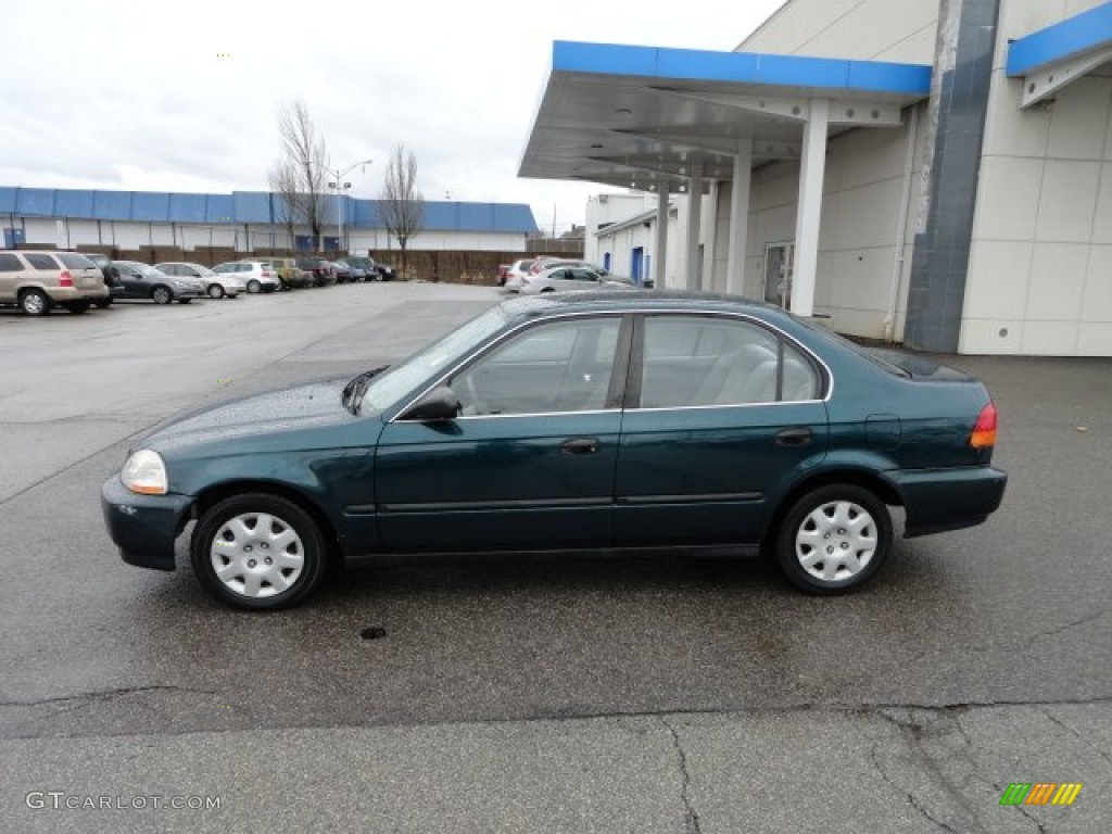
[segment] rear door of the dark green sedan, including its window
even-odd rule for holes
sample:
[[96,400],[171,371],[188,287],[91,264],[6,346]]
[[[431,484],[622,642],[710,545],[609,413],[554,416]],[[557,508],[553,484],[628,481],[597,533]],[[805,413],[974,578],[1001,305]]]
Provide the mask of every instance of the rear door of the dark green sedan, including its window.
[[822,367],[745,318],[638,319],[615,545],[752,543],[785,478],[826,449]]

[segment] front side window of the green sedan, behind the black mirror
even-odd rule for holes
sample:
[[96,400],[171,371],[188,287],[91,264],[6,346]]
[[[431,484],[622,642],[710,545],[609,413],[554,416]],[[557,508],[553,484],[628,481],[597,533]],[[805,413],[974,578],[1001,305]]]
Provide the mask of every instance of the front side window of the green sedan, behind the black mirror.
[[451,380],[463,416],[554,414],[606,407],[617,316],[537,325],[510,337]]

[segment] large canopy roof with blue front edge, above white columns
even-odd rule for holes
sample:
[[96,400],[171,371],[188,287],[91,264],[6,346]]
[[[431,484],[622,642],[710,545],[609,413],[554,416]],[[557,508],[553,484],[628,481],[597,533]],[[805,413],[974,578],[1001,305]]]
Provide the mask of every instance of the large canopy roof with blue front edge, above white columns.
[[931,68],[826,58],[556,41],[518,176],[639,190],[733,179],[800,159],[810,101],[830,102],[830,136],[900,125],[930,95]]

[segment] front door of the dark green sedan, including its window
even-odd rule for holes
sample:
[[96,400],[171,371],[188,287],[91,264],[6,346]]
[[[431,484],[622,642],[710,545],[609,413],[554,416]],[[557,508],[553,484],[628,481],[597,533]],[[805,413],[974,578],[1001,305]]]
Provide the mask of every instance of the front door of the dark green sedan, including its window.
[[446,379],[457,419],[390,421],[375,466],[384,546],[608,545],[628,342],[615,315],[537,322]]

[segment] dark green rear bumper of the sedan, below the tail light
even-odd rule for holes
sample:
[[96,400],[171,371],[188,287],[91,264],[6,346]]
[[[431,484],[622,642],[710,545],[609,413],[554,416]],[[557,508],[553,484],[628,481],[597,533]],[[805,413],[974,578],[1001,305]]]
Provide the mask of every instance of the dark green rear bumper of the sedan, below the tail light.
[[886,474],[903,498],[904,536],[975,527],[996,512],[1007,474],[991,466],[914,469]]

